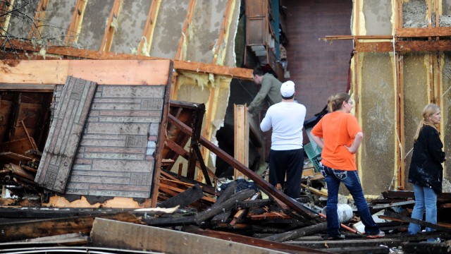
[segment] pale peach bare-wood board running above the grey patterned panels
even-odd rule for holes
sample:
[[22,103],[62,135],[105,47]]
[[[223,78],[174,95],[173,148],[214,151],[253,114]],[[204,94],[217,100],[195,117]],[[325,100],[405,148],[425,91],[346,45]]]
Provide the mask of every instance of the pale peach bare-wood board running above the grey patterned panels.
[[[64,84],[71,75],[98,85],[164,85],[168,83],[170,64],[169,60],[3,60],[0,83]],[[37,69],[39,72],[30,72]]]

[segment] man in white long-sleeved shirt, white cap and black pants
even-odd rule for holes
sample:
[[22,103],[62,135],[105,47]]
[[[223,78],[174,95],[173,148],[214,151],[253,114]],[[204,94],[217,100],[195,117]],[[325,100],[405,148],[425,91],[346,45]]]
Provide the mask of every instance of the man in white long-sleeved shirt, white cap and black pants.
[[282,84],[280,95],[282,102],[269,107],[260,123],[261,131],[273,129],[269,153],[269,183],[283,186],[286,174],[285,193],[291,198],[299,198],[304,169],[302,127],[307,110],[304,105],[295,102],[295,83],[292,81]]

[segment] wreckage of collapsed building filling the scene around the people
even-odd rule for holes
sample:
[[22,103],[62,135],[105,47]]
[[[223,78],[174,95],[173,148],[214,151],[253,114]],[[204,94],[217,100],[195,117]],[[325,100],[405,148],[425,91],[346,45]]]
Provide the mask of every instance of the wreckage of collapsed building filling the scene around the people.
[[[341,2],[0,1],[0,253],[446,251],[449,242],[421,241],[451,239],[450,169],[444,165],[437,225],[410,218],[405,169],[428,102],[440,104],[450,152],[451,1]],[[288,45],[299,39],[290,30],[315,27],[285,24],[299,6],[349,11],[352,35],[321,37],[352,42],[340,90],[314,87],[327,66],[313,66],[311,75],[288,71],[287,59],[299,64],[290,59],[299,50]],[[332,47],[315,40],[321,50]],[[247,114],[250,99],[233,90],[256,92],[242,85],[254,66],[280,80],[291,75],[316,112],[348,86],[365,133],[359,175],[385,238],[365,238],[346,197],[347,239],[321,237],[327,186],[317,169],[321,150],[308,136],[326,110],[304,123],[302,198],[266,181],[261,116]],[[221,177],[227,170],[234,181]],[[437,231],[409,236],[410,222]]]

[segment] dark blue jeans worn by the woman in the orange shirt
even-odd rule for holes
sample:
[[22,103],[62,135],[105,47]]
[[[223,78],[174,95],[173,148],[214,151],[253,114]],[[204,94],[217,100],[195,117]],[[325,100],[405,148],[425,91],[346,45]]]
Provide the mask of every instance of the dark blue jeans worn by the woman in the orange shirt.
[[352,198],[354,198],[354,205],[360,214],[360,219],[365,226],[366,234],[378,234],[379,227],[374,222],[371,213],[369,212],[368,203],[364,197],[364,191],[360,184],[359,174],[357,170],[346,171],[339,169],[331,169],[321,165],[321,174],[326,179],[327,183],[327,234],[329,236],[340,236],[340,221],[338,220],[337,204],[338,204],[338,189],[340,183],[345,184],[348,191],[350,191]]

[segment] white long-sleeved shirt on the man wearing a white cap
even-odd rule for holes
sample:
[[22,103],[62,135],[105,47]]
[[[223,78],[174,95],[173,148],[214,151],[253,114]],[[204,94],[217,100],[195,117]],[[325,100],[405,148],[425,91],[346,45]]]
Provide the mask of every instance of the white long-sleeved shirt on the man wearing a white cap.
[[295,150],[302,148],[302,126],[307,109],[296,102],[279,102],[266,111],[260,123],[261,131],[269,131],[271,150]]

